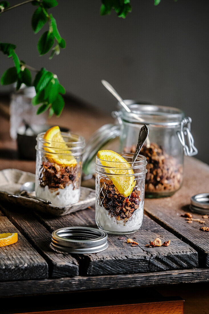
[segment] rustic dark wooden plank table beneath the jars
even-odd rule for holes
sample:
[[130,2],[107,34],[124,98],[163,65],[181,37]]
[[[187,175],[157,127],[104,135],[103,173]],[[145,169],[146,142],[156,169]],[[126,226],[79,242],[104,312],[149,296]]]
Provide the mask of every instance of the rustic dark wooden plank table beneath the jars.
[[[87,121],[90,121],[90,127],[87,127]],[[78,108],[69,107],[59,124],[89,137],[99,126],[110,121],[85,108],[80,108],[79,112]],[[35,162],[17,160],[15,143],[8,135],[8,121],[0,117],[0,123],[0,168],[34,172]],[[57,121],[51,123],[57,124]],[[186,158],[182,188],[171,198],[145,200],[142,227],[131,235],[136,237],[137,246],[126,243],[127,235],[123,240],[110,235],[107,250],[80,256],[54,252],[49,246],[51,232],[66,226],[95,227],[94,208],[54,218],[1,204],[0,233],[5,230],[18,232],[19,240],[0,248],[0,297],[170,287],[181,283],[204,285],[209,280],[209,233],[200,228],[209,226],[209,219],[204,219],[204,224],[187,223],[181,215],[189,211],[192,195],[208,190],[209,167],[194,158]],[[193,214],[193,217],[202,218],[202,215]],[[156,237],[170,240],[170,246],[146,247]],[[198,310],[192,313],[198,313]]]

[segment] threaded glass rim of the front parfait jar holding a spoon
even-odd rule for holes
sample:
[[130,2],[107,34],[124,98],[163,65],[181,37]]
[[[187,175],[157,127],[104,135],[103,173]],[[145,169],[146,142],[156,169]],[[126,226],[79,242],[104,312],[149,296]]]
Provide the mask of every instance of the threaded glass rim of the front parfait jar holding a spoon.
[[[129,157],[129,158],[133,158],[134,154],[133,153],[118,153],[120,154],[122,157]],[[108,161],[108,163],[110,164],[110,166],[103,166],[102,164],[99,164],[98,162],[101,163],[101,161],[107,161],[107,160],[102,160],[100,158],[98,158],[96,156],[96,162],[95,162],[95,170],[101,170],[101,169],[114,169],[114,170],[137,170],[137,169],[140,169],[140,168],[145,168],[145,171],[144,172],[140,172],[139,174],[143,174],[143,173],[147,173],[147,170],[146,170],[146,165],[147,165],[147,159],[145,156],[143,155],[138,155],[137,157],[137,160],[132,162],[132,161],[126,161],[126,162],[123,162],[123,161]],[[118,167],[117,165],[120,165],[120,164],[123,164],[124,167],[121,168],[121,167]],[[126,166],[127,165],[127,166]],[[113,174],[114,175],[114,174]],[[120,174],[115,174],[117,176],[120,176]],[[136,173],[134,173],[133,175],[136,175]],[[121,176],[124,176],[124,174],[121,174]],[[130,176],[130,174],[126,174],[125,176]]]

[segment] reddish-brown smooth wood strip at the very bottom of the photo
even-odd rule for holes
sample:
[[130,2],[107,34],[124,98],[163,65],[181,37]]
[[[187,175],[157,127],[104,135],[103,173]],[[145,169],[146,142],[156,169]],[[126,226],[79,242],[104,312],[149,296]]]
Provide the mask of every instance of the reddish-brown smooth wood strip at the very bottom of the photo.
[[[55,311],[39,311],[35,314],[184,314],[184,300],[94,306]],[[27,312],[24,314],[30,314]],[[17,314],[17,313],[16,313]],[[20,313],[23,314],[23,313]]]

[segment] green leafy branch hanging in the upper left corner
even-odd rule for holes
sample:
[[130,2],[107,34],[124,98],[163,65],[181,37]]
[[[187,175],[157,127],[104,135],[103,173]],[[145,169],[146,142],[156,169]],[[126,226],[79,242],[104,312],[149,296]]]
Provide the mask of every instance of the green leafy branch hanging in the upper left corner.
[[[54,54],[60,53],[60,48],[65,48],[65,40],[60,36],[57,29],[56,20],[52,14],[48,14],[48,9],[55,7],[58,3],[56,0],[38,0],[26,1],[19,3],[14,6],[9,6],[7,1],[0,2],[0,13],[8,11],[11,8],[16,8],[20,5],[31,2],[33,5],[37,5],[38,8],[35,10],[32,16],[32,28],[34,33],[39,32],[42,27],[48,21],[49,30],[41,35],[38,41],[38,51],[40,55],[46,54],[53,46],[54,41],[56,45],[52,48],[50,59]],[[60,116],[64,107],[64,99],[61,94],[65,94],[64,87],[59,83],[56,74],[47,71],[42,68],[40,71],[35,68],[26,65],[24,61],[19,60],[19,57],[15,53],[16,46],[8,43],[0,43],[0,51],[2,51],[8,58],[13,59],[14,67],[6,70],[0,80],[2,85],[8,85],[16,82],[16,89],[19,90],[21,84],[31,86],[31,72],[36,72],[33,86],[35,87],[36,96],[32,100],[34,106],[40,105],[37,110],[37,114],[40,114],[49,109],[49,115]]]

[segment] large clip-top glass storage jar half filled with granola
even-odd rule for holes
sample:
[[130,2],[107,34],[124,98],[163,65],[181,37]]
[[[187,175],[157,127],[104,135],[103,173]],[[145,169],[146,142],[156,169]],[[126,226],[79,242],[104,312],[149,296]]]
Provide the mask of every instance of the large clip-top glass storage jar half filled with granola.
[[197,154],[190,133],[191,119],[177,108],[125,102],[131,113],[114,112],[121,126],[120,150],[135,152],[139,130],[147,124],[149,136],[140,152],[147,158],[145,196],[173,195],[182,185],[184,151],[190,156]]

